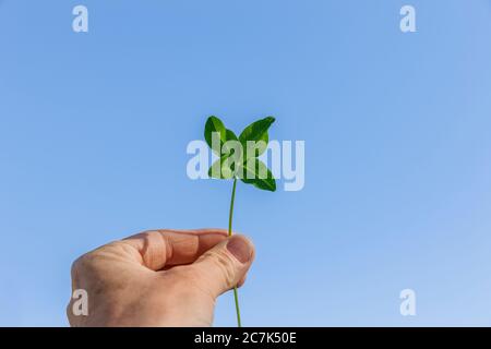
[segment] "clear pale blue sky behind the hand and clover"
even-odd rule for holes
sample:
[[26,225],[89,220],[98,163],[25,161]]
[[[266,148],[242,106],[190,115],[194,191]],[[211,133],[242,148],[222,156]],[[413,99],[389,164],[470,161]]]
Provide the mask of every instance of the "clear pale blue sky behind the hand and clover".
[[226,227],[185,174],[208,115],[306,141],[302,191],[238,186],[246,325],[491,325],[490,38],[488,0],[0,1],[0,325],[67,325],[103,243]]

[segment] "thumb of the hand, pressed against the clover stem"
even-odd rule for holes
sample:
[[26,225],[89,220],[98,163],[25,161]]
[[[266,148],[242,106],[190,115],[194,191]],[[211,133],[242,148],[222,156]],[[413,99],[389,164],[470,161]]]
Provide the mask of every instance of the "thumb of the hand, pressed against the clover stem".
[[214,297],[237,286],[254,258],[254,245],[244,236],[233,236],[206,251],[190,267]]

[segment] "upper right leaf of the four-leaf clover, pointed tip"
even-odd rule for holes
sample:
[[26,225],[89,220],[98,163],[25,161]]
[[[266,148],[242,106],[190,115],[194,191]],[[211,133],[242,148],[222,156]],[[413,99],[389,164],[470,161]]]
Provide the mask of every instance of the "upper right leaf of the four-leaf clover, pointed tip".
[[[246,153],[244,158],[258,157],[266,151],[267,142],[270,142],[267,130],[273,122],[275,122],[275,118],[267,117],[251,123],[242,131],[239,141]],[[249,144],[248,147],[248,141],[254,142],[255,146],[251,148]]]

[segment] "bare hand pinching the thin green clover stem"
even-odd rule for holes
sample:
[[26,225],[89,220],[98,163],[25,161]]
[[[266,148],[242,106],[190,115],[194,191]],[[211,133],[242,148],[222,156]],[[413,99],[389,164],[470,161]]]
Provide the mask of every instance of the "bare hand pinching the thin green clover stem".
[[243,236],[226,230],[153,230],[88,252],[72,265],[88,315],[71,326],[211,326],[216,298],[241,286],[254,258]]

